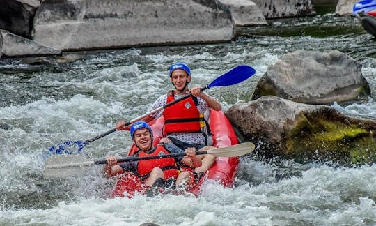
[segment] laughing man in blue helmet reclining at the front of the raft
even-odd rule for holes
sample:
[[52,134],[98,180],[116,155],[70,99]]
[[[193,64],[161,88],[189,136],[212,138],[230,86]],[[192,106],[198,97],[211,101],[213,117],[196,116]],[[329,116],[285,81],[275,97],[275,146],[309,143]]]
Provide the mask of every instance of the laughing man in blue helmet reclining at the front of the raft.
[[[201,166],[201,158],[197,158],[196,149],[194,147],[179,149],[172,143],[152,145],[152,129],[148,123],[138,121],[132,124],[130,128],[130,136],[139,148],[133,156],[161,156],[169,153],[185,152],[186,156],[176,158],[159,158],[150,160],[140,160],[132,162],[117,163],[115,156],[107,156],[107,164],[104,165],[104,172],[108,176],[114,176],[123,172],[132,172],[139,177],[145,188],[171,188],[173,182],[177,187],[191,188],[195,184],[194,174],[187,170],[181,172],[180,164],[188,165],[196,168]],[[166,183],[168,181],[168,183]]]

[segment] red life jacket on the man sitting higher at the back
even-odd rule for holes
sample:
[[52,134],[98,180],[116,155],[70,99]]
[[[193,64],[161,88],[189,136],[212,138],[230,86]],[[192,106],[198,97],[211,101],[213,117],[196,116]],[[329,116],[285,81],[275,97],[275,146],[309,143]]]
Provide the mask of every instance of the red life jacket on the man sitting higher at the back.
[[[167,103],[175,100],[175,91],[167,93]],[[191,96],[163,110],[164,136],[170,133],[203,133],[205,126],[203,114],[197,109],[197,98]]]

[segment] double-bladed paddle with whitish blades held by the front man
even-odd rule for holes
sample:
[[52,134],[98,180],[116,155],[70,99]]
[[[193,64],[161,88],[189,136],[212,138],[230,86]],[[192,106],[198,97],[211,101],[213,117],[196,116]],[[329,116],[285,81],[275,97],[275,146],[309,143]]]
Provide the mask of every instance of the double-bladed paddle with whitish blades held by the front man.
[[[224,148],[212,149],[209,151],[197,151],[196,155],[211,154],[215,157],[237,157],[251,153],[254,149],[255,145],[249,142]],[[185,153],[171,153],[164,156],[120,158],[118,159],[118,163],[178,156],[185,156]],[[106,163],[106,160],[86,160],[86,158],[81,155],[54,155],[49,156],[45,162],[45,175],[53,177],[74,176],[86,172],[86,167]]]

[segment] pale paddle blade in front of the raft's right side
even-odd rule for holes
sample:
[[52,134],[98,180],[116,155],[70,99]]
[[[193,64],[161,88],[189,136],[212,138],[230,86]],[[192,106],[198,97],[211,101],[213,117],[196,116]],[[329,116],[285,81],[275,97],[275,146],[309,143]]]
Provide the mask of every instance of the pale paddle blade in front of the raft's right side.
[[215,157],[237,157],[251,153],[253,150],[255,150],[255,144],[247,142],[224,148],[212,149],[207,151],[207,153]]

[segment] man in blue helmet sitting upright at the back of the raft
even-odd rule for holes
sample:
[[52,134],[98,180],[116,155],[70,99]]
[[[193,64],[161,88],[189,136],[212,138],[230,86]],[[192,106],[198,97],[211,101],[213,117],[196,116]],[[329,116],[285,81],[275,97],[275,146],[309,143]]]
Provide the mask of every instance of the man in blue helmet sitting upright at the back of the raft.
[[[208,151],[215,149],[213,146],[205,145],[205,134],[203,133],[204,113],[212,108],[213,110],[221,110],[221,103],[218,100],[201,91],[196,86],[189,90],[188,84],[191,82],[191,70],[185,63],[173,63],[169,70],[170,81],[175,90],[169,91],[167,95],[159,97],[153,103],[151,110],[162,107],[175,99],[187,96],[189,93],[193,95],[191,98],[182,100],[174,105],[166,107],[164,110],[151,114],[143,119],[144,121],[152,121],[160,116],[164,116],[164,138],[160,142],[173,144],[185,150],[187,147],[195,147],[198,151]],[[125,121],[118,121],[117,130],[129,130],[124,126]],[[205,155],[202,158],[201,167],[197,167],[195,172],[202,174],[209,169],[214,163],[214,156]]]

